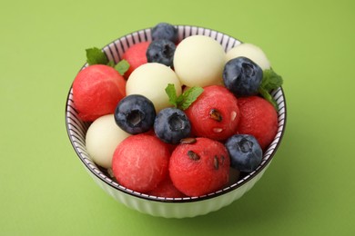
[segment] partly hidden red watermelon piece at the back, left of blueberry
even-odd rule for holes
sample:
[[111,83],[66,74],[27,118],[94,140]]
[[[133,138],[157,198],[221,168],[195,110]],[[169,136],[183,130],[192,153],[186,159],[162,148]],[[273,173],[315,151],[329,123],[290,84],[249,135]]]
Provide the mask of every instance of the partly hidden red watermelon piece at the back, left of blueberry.
[[129,75],[137,69],[139,65],[147,64],[147,48],[150,42],[141,42],[130,46],[127,51],[122,55],[122,59],[126,60],[129,64],[127,72],[124,77],[128,79]]

